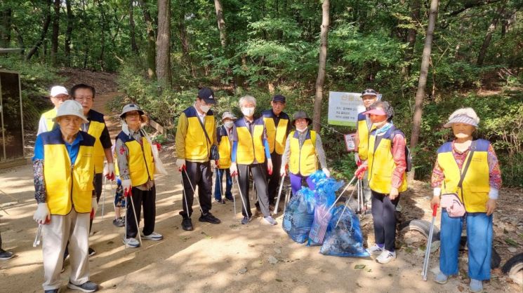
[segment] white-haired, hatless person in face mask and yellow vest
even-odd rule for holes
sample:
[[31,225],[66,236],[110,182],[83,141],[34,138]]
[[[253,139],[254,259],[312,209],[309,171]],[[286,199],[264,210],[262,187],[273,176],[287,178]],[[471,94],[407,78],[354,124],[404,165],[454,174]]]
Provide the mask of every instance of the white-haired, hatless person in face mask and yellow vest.
[[267,159],[267,171],[272,174],[272,161],[270,158],[267,130],[263,118],[254,118],[256,99],[246,95],[239,99],[239,107],[243,118],[237,119],[232,127],[232,154],[231,176],[238,176],[239,188],[243,206],[241,213],[244,219],[241,224],[249,224],[252,218],[251,203],[249,202],[249,170],[253,174],[254,184],[258,192],[258,205],[263,214],[263,219],[270,225],[277,222],[272,219],[269,210],[269,197],[267,193],[267,179],[265,179],[264,163]]

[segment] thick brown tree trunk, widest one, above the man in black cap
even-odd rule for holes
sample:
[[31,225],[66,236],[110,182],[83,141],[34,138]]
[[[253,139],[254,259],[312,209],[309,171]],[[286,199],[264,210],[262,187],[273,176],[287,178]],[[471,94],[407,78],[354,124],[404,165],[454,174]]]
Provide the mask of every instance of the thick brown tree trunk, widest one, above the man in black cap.
[[171,1],[158,0],[156,74],[162,87],[171,86]]

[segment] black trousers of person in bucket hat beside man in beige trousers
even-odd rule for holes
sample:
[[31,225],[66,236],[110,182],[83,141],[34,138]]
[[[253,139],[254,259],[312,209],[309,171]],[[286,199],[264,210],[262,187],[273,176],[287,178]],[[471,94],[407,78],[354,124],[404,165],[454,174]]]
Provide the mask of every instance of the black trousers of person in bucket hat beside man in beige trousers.
[[[133,197],[134,212],[140,224],[140,211],[143,206],[143,235],[150,235],[154,232],[154,220],[156,218],[156,186],[152,186],[150,190],[140,190],[136,187],[131,189],[131,196]],[[131,199],[127,200],[127,238],[135,238],[138,234],[138,227],[134,218],[133,205]]]

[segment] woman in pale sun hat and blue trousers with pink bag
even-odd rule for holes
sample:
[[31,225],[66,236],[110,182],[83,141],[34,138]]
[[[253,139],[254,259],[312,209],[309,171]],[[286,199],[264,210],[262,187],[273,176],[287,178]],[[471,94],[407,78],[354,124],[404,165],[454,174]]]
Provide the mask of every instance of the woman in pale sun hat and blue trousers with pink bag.
[[435,281],[444,284],[449,275],[458,273],[461,230],[466,221],[468,275],[472,292],[482,292],[482,281],[490,279],[492,214],[501,187],[501,172],[494,148],[484,139],[472,138],[478,123],[479,118],[472,108],[458,109],[451,114],[444,127],[452,128],[455,139],[439,147],[432,171],[432,207],[439,205],[440,194],[456,193],[466,211],[462,217],[451,217],[442,208],[440,272]]

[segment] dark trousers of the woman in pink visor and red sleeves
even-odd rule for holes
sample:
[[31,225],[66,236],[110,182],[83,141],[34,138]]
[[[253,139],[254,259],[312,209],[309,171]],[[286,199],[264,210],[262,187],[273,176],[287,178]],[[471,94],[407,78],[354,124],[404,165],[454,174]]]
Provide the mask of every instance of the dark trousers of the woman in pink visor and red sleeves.
[[395,251],[396,246],[396,205],[387,194],[372,191],[372,217],[374,220],[374,238],[376,244],[385,244],[385,250]]

